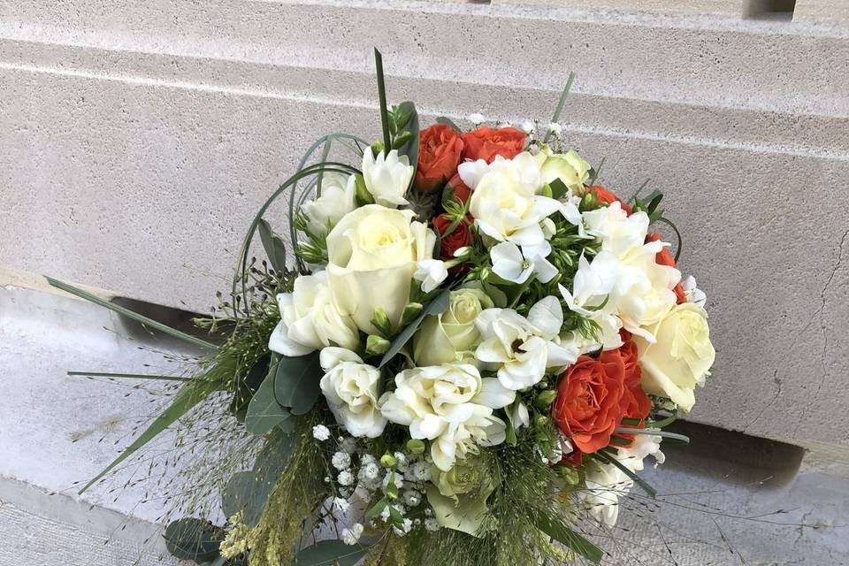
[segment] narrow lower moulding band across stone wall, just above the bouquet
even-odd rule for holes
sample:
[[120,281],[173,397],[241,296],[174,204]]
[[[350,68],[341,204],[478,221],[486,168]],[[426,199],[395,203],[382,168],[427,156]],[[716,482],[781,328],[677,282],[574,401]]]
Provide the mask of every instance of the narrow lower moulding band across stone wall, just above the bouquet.
[[[69,48],[0,39],[0,69],[7,73],[53,73],[91,80],[118,80],[150,88],[214,91],[311,103],[376,108],[371,73],[262,65],[204,57]],[[61,64],[57,61],[61,58]],[[0,73],[2,79],[2,73]],[[487,119],[541,119],[553,91],[514,88],[504,99],[498,85],[410,80],[390,76],[395,96],[417,101],[425,115],[463,119],[482,111]],[[493,101],[499,105],[493,106]],[[772,111],[711,108],[680,103],[574,94],[563,125],[575,132],[849,160],[849,141],[839,135],[849,119]]]

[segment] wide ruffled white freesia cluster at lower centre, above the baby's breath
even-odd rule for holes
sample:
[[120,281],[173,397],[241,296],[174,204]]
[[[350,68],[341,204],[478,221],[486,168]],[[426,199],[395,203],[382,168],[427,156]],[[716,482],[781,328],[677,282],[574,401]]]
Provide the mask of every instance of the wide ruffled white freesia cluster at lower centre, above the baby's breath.
[[456,458],[477,454],[481,446],[505,439],[505,424],[493,409],[506,407],[515,394],[497,379],[481,379],[470,363],[445,363],[405,370],[395,376],[394,392],[381,399],[384,417],[409,426],[418,440],[431,440],[433,463],[450,470]]

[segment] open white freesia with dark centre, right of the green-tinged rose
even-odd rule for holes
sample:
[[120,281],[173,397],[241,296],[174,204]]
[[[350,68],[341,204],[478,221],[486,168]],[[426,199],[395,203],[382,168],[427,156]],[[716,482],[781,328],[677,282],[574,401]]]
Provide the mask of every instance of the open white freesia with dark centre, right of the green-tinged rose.
[[511,309],[487,309],[475,324],[484,339],[475,356],[493,364],[501,385],[513,391],[539,383],[547,368],[577,359],[558,344],[563,311],[555,296],[533,305],[527,318]]

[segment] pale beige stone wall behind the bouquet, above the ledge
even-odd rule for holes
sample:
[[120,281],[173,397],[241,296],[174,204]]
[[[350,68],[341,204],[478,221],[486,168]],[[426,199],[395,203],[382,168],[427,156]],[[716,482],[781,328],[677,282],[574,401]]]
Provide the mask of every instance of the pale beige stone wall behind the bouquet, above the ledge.
[[[696,420],[849,445],[849,29],[539,6],[0,4],[0,264],[206,310],[318,135],[378,133],[371,47],[424,121],[562,122],[651,178],[718,349]],[[282,215],[270,218],[276,224]],[[184,302],[185,303],[184,303]]]

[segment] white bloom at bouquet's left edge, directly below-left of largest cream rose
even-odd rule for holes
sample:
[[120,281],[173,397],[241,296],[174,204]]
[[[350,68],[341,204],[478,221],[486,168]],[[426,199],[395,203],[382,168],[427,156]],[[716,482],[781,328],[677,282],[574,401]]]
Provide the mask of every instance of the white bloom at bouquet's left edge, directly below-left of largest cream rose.
[[325,346],[354,349],[359,344],[354,320],[333,304],[325,272],[298,277],[293,292],[277,295],[277,302],[280,322],[268,340],[272,352],[306,356]]

